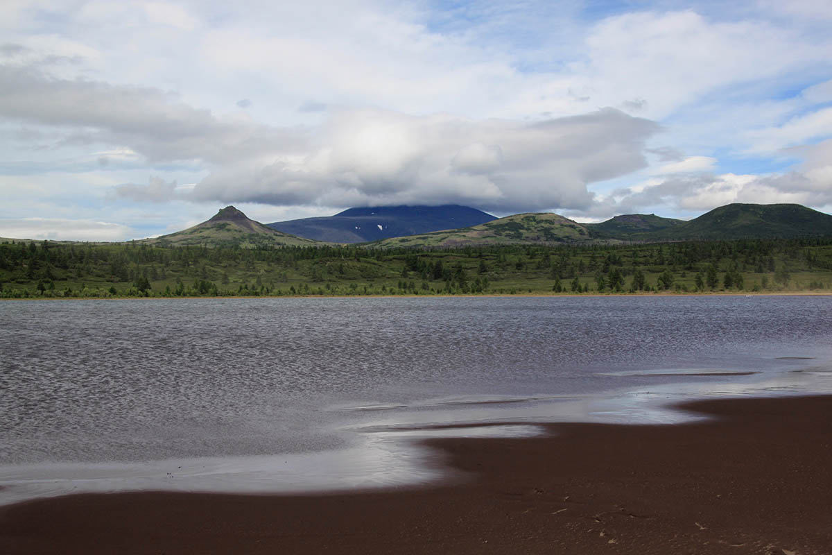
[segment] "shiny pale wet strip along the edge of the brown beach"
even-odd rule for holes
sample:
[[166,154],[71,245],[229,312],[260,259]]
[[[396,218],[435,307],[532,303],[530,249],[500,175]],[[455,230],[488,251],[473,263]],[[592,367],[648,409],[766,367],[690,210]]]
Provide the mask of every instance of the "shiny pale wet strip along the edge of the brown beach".
[[671,406],[695,399],[832,394],[832,369],[819,368],[790,369],[758,381],[659,384],[607,394],[427,400],[398,405],[394,414],[372,424],[344,426],[341,433],[358,438],[354,446],[317,453],[6,466],[0,467],[0,504],[67,493],[337,492],[447,481],[454,474],[422,440],[532,437],[544,431],[535,423],[681,424],[707,418]]

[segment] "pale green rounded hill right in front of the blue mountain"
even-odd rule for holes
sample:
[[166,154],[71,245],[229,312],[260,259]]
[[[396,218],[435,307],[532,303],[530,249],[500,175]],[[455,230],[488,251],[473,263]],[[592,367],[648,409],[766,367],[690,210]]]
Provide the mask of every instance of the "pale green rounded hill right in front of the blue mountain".
[[562,245],[592,242],[589,230],[557,214],[516,214],[458,230],[434,231],[381,240],[383,247],[455,247],[468,245]]

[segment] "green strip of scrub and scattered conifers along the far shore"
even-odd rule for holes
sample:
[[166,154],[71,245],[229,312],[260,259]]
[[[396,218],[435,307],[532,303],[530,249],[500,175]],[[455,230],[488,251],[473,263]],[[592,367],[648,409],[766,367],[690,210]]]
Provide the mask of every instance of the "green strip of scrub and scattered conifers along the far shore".
[[620,245],[0,242],[0,297],[832,292],[832,237]]

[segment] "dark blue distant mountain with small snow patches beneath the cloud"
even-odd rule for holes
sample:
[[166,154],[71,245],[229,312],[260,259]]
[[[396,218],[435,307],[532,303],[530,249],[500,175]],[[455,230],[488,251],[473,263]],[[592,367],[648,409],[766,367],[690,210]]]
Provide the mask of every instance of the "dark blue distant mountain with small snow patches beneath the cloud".
[[493,220],[496,220],[494,216],[468,206],[370,206],[349,208],[335,216],[276,221],[267,225],[274,230],[314,240],[364,243],[457,229]]

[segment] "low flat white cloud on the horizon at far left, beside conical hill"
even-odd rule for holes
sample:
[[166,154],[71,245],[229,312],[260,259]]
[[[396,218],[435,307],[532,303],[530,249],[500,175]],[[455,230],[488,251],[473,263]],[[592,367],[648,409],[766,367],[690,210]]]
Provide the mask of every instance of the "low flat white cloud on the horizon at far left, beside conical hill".
[[0,219],[0,237],[37,240],[126,240],[133,231],[106,221],[60,218]]

